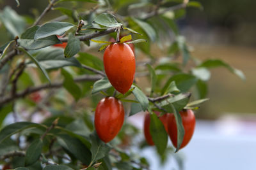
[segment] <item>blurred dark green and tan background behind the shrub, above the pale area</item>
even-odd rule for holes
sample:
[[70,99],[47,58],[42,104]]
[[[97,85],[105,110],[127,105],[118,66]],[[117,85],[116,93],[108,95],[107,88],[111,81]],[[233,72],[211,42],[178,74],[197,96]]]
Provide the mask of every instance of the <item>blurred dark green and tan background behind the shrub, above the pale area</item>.
[[[193,46],[192,54],[199,59],[225,60],[241,69],[246,81],[241,81],[224,68],[212,69],[208,95],[211,100],[202,104],[196,117],[214,119],[225,113],[239,117],[252,115],[256,113],[256,1],[200,0],[200,3],[204,6],[203,10],[188,8],[186,17],[178,21],[181,34]],[[0,9],[12,6],[13,10],[29,19],[35,18],[47,4],[47,0],[22,0],[17,7],[15,0],[1,0]],[[58,16],[60,13],[53,11],[47,15]],[[7,40],[3,26],[0,27],[0,36],[2,45]]]

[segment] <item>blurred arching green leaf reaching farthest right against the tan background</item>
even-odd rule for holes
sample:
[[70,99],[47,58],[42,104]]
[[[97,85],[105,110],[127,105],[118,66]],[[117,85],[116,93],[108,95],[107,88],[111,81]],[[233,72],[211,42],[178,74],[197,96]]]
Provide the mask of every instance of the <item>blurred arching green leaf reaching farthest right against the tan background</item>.
[[239,69],[235,69],[233,67],[231,67],[229,64],[227,64],[226,62],[224,62],[223,60],[218,60],[218,59],[209,59],[209,60],[205,60],[204,62],[202,62],[202,64],[200,64],[197,67],[207,67],[207,68],[212,68],[212,67],[225,67],[227,68],[231,73],[236,74],[237,76],[239,76],[239,78],[241,78],[242,80],[245,80],[245,76],[243,74],[243,72]]

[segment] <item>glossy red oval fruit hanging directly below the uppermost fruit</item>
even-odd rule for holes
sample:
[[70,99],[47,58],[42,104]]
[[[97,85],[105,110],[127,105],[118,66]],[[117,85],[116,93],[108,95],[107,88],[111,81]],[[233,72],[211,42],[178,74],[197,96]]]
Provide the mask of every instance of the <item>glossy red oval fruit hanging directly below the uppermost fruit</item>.
[[124,123],[124,106],[115,97],[100,100],[95,111],[94,125],[99,138],[108,143],[118,134]]

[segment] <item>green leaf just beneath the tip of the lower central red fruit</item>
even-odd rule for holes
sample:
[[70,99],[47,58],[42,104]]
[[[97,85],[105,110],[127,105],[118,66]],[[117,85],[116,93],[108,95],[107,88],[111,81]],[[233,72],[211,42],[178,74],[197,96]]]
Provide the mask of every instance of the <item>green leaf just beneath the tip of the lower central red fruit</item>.
[[92,153],[92,160],[90,164],[93,164],[95,161],[104,158],[108,152],[111,150],[111,147],[100,140],[97,136],[96,132],[90,134],[91,139],[91,153]]

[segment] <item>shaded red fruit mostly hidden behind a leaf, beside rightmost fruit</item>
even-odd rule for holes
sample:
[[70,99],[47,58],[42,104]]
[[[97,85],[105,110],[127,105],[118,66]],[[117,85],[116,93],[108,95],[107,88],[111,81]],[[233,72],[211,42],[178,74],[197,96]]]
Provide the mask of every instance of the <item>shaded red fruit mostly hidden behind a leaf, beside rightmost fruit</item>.
[[[158,111],[155,111],[155,113],[157,116],[160,114],[160,112],[158,112]],[[164,129],[166,130],[166,132],[167,132],[168,115],[169,115],[169,113],[166,113],[165,115],[160,117],[160,120],[163,123]],[[150,113],[145,114],[143,130],[144,130],[144,136],[145,136],[145,139],[146,139],[148,145],[150,145],[150,146],[155,145],[154,141],[152,139],[152,136],[150,134]]]

